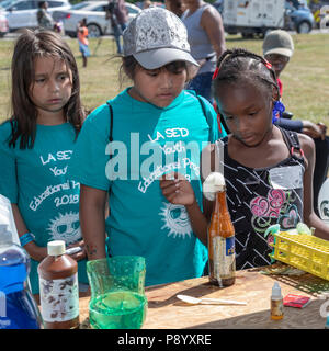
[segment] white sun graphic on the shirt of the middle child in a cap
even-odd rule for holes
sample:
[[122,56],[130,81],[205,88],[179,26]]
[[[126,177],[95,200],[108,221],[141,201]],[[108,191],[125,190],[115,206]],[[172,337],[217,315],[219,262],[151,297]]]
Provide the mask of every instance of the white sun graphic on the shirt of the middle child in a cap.
[[173,236],[175,238],[178,236],[185,238],[186,235],[191,237],[192,227],[185,207],[171,203],[163,203],[163,205],[159,213],[164,222],[161,229],[169,229],[169,237]]

